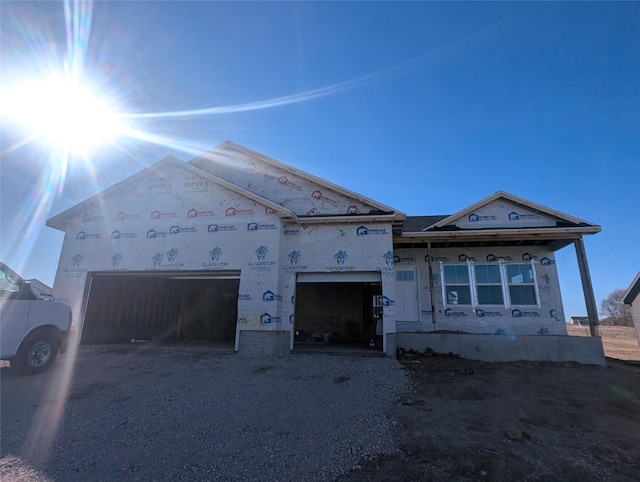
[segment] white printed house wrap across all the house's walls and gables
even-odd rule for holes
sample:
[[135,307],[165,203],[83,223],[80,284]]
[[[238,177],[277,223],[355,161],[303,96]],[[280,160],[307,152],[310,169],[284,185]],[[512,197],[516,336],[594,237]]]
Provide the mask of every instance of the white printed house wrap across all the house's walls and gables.
[[[161,161],[105,191],[101,198],[85,201],[82,211],[72,208],[56,219],[56,226],[66,224],[66,232],[53,294],[72,307],[78,335],[88,273],[219,270],[240,272],[236,350],[244,339],[249,348],[241,351],[247,353],[282,353],[280,347],[287,340],[293,347],[296,275],[303,272],[379,272],[383,342],[389,350],[394,349],[395,336],[388,336],[393,333],[567,334],[555,259],[546,248],[433,249],[434,325],[426,248],[394,251],[391,222],[358,222],[358,214],[379,210],[375,202],[255,157],[230,148],[184,166],[175,159]],[[214,182],[211,175],[239,189]],[[245,197],[239,193],[243,189],[253,194],[245,192]],[[268,199],[265,203],[271,207],[254,195]],[[279,211],[283,216],[289,210],[301,217],[327,217],[323,223],[295,224],[278,217],[271,209],[277,206],[271,203],[285,208]],[[553,227],[557,222],[551,215],[504,198],[464,213],[450,224],[506,232]],[[352,222],[333,223],[332,215],[353,215]],[[532,263],[537,304],[448,306],[442,264],[473,263]],[[409,266],[416,270],[418,295],[417,313],[411,314],[405,308],[414,293],[396,281],[397,270]],[[638,303],[636,320],[640,318],[637,308]],[[414,315],[417,321],[406,321]],[[402,316],[406,320],[399,319]]]

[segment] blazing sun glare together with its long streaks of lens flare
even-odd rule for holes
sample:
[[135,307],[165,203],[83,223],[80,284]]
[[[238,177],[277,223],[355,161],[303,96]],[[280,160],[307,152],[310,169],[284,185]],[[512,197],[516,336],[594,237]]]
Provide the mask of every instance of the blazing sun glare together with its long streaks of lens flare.
[[[21,22],[24,25],[21,25],[18,31],[24,32],[21,45],[26,45],[27,49],[32,51],[20,52],[20,55],[16,56],[20,60],[18,63],[25,65],[14,69],[15,71],[8,68],[6,61],[3,65],[0,115],[3,122],[8,121],[24,133],[21,140],[5,147],[3,154],[40,142],[46,147],[43,150],[46,167],[40,171],[40,177],[31,188],[30,197],[16,209],[10,229],[10,232],[16,235],[2,247],[3,256],[8,254],[8,259],[25,259],[32,252],[37,234],[49,215],[54,200],[62,193],[69,165],[78,160],[82,161],[90,175],[90,181],[93,182],[92,188],[96,192],[101,189],[96,169],[96,163],[99,161],[92,156],[92,152],[98,147],[108,145],[125,152],[125,141],[134,140],[141,142],[145,147],[153,143],[195,156],[205,151],[206,146],[199,145],[193,139],[176,135],[180,129],[172,129],[169,134],[162,135],[159,133],[158,123],[167,119],[222,116],[273,109],[356,90],[391,76],[404,75],[407,71],[424,68],[426,64],[445,57],[448,51],[460,43],[468,42],[474,36],[482,34],[480,32],[470,35],[390,68],[304,92],[235,105],[196,106],[171,112],[124,113],[118,112],[115,107],[112,110],[111,106],[118,104],[115,96],[104,95],[101,89],[92,88],[92,85],[97,85],[95,82],[101,80],[98,78],[100,72],[85,70],[93,22],[93,2],[65,0],[63,6],[66,52],[62,62],[55,55],[51,55],[51,49],[45,42],[39,41],[39,28],[30,31],[25,27],[29,25],[26,21],[28,19],[25,18],[21,19],[24,20]],[[43,29],[45,27],[47,25],[42,25]],[[115,40],[117,41],[117,38]],[[145,124],[153,127],[141,127]],[[208,136],[210,135],[209,130]],[[131,152],[126,154],[130,159]],[[33,161],[33,158],[30,160]],[[22,162],[22,159],[20,161]],[[79,307],[74,308],[76,329],[82,323],[84,315],[78,311]],[[72,344],[66,363],[58,373],[59,378],[50,384],[51,391],[43,398],[42,406],[28,434],[25,451],[31,455],[35,454],[39,459],[51,456],[53,442],[65,412],[76,353],[77,346]]]

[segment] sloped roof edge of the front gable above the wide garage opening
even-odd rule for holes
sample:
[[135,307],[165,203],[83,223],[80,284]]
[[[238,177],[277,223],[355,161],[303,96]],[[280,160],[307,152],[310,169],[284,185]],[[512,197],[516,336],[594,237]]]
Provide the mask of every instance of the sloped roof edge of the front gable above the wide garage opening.
[[224,179],[221,179],[207,171],[203,171],[202,169],[196,166],[183,162],[176,157],[167,156],[164,159],[161,159],[160,161],[156,162],[155,164],[152,164],[151,166],[146,167],[145,169],[142,169],[136,174],[129,176],[128,178],[114,184],[111,187],[108,187],[107,189],[99,192],[98,194],[91,196],[90,198],[87,198],[84,201],[79,202],[78,204],[67,209],[66,211],[63,211],[53,216],[52,218],[49,218],[46,224],[51,228],[64,231],[67,226],[67,220],[69,218],[77,216],[78,214],[81,214],[87,205],[92,204],[94,202],[105,203],[108,201],[110,197],[116,195],[119,192],[124,191],[128,185],[138,181],[142,177],[149,174],[149,172],[162,173],[162,170],[167,166],[178,166],[181,169],[185,169],[197,176],[200,176],[208,181],[211,181],[214,184],[217,184],[223,188],[229,189],[230,191],[233,191],[239,194],[240,196],[244,196],[246,198],[251,199],[252,201],[257,202],[258,204],[271,208],[279,217],[292,218],[292,219],[296,218],[293,212],[291,212],[287,208],[280,206],[279,204],[271,202],[268,199],[265,199],[251,191],[247,191],[246,189],[238,187],[235,184],[225,181]]

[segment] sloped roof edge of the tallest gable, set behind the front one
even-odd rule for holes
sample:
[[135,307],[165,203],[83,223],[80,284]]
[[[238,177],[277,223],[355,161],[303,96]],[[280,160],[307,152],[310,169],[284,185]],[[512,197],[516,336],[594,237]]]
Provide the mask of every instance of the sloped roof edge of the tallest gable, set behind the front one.
[[[362,196],[358,193],[355,193],[353,191],[349,191],[348,189],[345,189],[344,187],[338,186],[337,184],[333,184],[329,181],[326,181],[324,179],[321,179],[319,177],[316,177],[312,174],[309,174],[305,171],[301,171],[299,169],[296,169],[288,164],[284,164],[280,161],[277,161],[275,159],[272,159],[271,157],[265,156],[264,154],[261,154],[259,152],[253,151],[251,149],[248,149],[244,146],[241,146],[239,144],[236,144],[235,142],[232,141],[225,141],[222,144],[220,144],[219,146],[215,147],[214,149],[195,157],[194,159],[190,160],[189,163],[190,164],[195,164],[198,163],[198,161],[202,161],[203,159],[206,159],[207,156],[215,156],[216,154],[223,154],[225,152],[236,152],[239,153],[243,156],[247,156],[250,157],[252,159],[259,159],[261,162],[268,164],[276,169],[280,169],[283,170],[285,172],[288,172],[290,174],[293,174],[295,176],[299,176],[301,178],[306,179],[307,181],[310,181],[314,184],[317,184],[321,187],[324,187],[326,189],[329,189],[333,192],[336,192],[338,194],[341,194],[347,198],[351,198],[357,201],[360,201],[361,203],[370,206],[372,208],[372,212],[370,213],[363,213],[365,216],[368,215],[375,215],[375,214],[381,214],[381,215],[389,215],[389,214],[393,214],[395,219],[398,220],[403,220],[406,218],[406,214],[404,214],[402,211],[398,211],[395,208],[386,206],[384,204],[381,204],[377,201],[374,201],[373,199],[367,198],[365,196]],[[354,215],[353,217],[358,217],[357,215]]]

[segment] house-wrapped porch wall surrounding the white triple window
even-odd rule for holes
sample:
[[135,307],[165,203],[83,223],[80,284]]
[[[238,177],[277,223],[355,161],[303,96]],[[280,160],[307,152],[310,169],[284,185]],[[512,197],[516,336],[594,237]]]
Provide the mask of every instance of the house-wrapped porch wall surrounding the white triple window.
[[[505,335],[566,335],[564,310],[553,252],[542,247],[432,249],[435,278],[436,325],[432,322],[427,249],[396,249],[395,267],[416,266],[420,303],[419,322],[396,322],[398,332],[435,330]],[[446,305],[441,265],[533,263],[537,305]],[[479,311],[480,310],[480,311]]]

